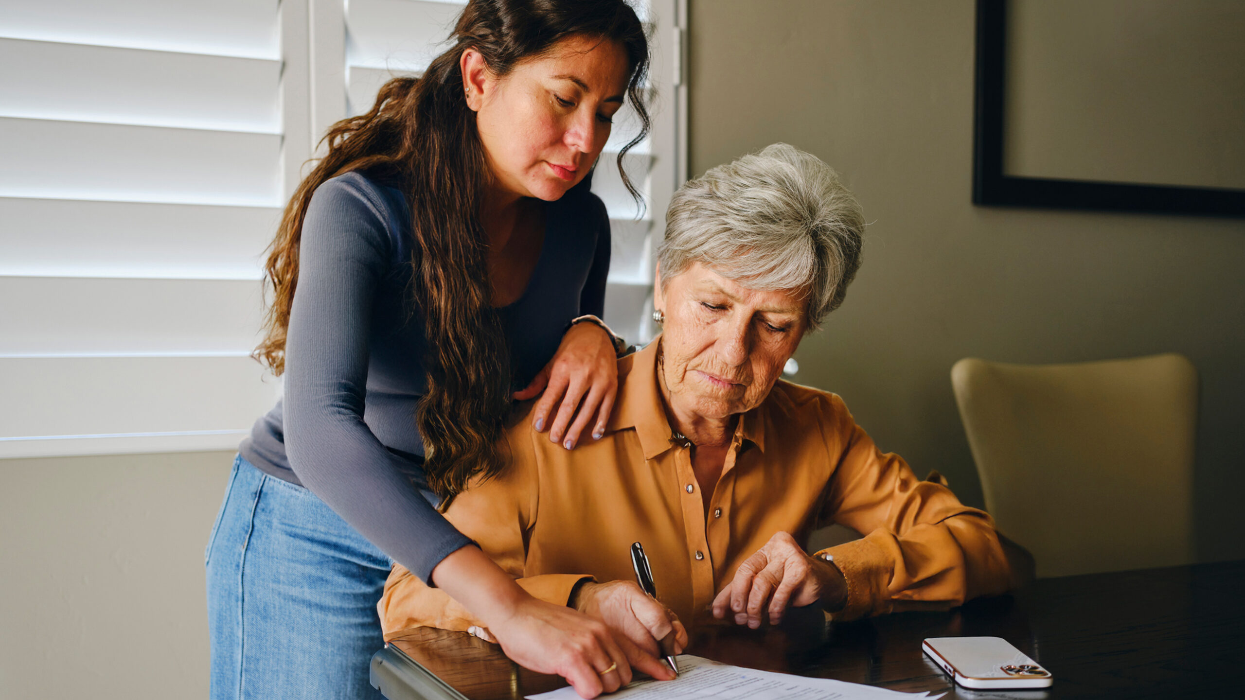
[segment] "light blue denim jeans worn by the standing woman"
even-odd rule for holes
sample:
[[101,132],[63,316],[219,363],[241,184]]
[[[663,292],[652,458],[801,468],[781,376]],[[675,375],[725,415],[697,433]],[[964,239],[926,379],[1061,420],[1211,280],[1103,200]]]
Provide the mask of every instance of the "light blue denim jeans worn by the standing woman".
[[324,501],[238,456],[204,559],[213,700],[382,698],[391,560]]

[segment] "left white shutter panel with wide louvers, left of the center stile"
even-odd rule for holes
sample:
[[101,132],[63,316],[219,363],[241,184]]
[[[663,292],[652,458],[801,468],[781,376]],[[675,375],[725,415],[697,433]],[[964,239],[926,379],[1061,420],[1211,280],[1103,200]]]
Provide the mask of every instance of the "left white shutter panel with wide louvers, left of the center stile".
[[0,457],[229,448],[271,407],[279,35],[275,0],[0,1]]

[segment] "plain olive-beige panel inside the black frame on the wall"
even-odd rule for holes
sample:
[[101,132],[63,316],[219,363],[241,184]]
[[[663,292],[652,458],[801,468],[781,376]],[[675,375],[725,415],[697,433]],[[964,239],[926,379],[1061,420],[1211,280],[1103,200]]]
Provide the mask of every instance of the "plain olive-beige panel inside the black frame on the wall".
[[1240,0],[1010,0],[1003,172],[1245,188],[1243,34]]

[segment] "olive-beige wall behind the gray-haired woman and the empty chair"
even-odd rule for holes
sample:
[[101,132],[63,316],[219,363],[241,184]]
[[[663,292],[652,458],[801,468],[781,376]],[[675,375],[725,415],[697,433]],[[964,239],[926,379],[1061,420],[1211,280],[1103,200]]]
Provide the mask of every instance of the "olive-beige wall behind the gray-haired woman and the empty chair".
[[1245,557],[1245,222],[974,207],[972,0],[692,0],[690,16],[692,173],[786,141],[839,169],[872,222],[797,380],[980,506],[955,360],[1183,352],[1203,384],[1198,553]]

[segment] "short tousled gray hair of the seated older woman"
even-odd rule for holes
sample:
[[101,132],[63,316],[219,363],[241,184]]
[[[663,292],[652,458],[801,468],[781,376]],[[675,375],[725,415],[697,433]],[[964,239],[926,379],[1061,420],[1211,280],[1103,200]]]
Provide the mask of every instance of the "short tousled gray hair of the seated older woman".
[[662,285],[693,263],[752,289],[808,290],[817,328],[860,267],[864,212],[839,174],[786,143],[687,181],[657,247]]

